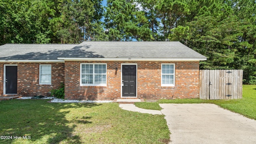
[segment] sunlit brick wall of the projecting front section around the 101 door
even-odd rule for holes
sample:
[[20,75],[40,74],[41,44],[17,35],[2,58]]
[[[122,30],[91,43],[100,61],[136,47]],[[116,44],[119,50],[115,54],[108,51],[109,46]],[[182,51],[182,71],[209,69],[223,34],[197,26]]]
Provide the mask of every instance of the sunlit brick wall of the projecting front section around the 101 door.
[[[107,85],[80,86],[80,63],[107,63]],[[199,97],[199,62],[66,61],[65,99],[109,100],[121,97],[121,63],[138,65],[139,99]],[[161,87],[161,63],[175,63],[175,87]],[[115,73],[116,67],[118,72]]]

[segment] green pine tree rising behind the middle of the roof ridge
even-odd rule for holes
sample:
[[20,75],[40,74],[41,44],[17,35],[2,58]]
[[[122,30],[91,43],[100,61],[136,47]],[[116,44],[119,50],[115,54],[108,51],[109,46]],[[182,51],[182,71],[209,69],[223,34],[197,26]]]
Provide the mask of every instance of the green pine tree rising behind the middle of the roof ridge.
[[148,20],[144,12],[136,10],[133,0],[108,0],[105,24],[111,41],[152,39]]

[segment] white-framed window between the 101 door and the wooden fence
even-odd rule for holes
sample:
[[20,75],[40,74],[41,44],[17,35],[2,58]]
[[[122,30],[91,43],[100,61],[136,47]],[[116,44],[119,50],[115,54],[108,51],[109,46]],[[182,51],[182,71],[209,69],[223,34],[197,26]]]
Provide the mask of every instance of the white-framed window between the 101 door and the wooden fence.
[[162,63],[161,67],[161,86],[175,85],[175,64]]

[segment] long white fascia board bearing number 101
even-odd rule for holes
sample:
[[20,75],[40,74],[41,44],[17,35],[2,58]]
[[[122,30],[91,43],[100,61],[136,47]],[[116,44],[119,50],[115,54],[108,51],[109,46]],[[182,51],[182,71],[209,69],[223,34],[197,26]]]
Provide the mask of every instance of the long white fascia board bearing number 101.
[[118,57],[118,58],[78,58],[78,57],[58,57],[65,61],[205,61],[207,58],[138,58],[138,57]]

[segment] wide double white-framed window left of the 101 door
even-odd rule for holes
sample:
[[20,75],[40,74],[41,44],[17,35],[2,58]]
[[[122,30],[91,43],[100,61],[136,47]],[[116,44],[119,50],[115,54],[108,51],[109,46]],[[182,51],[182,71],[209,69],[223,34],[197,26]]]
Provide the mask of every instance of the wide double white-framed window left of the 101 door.
[[81,63],[80,85],[107,85],[106,63]]

